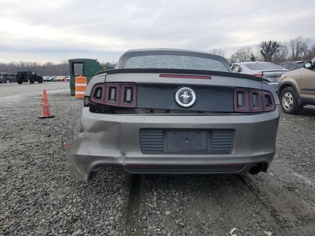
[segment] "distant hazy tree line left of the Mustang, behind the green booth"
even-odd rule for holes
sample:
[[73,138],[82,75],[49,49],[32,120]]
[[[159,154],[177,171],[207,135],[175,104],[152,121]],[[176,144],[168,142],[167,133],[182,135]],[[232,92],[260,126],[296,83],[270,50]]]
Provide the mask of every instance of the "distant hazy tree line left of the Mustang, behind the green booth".
[[[100,62],[100,65],[115,66],[115,62]],[[9,63],[0,62],[0,72],[7,72],[15,74],[19,70],[33,70],[36,74],[41,76],[59,76],[69,74],[69,62],[63,61],[61,63],[54,63],[48,61],[45,63],[38,63],[34,61],[12,61]]]

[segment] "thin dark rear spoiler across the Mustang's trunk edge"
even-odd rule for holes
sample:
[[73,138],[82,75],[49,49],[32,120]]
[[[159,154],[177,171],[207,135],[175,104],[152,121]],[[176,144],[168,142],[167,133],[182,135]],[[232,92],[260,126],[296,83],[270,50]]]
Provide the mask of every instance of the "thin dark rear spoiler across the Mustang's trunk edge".
[[103,70],[98,71],[95,75],[101,74],[120,74],[120,73],[170,73],[170,74],[193,74],[193,75],[215,75],[215,76],[226,76],[226,77],[236,77],[248,80],[254,80],[258,82],[269,82],[261,77],[252,76],[248,74],[240,74],[234,72],[224,72],[224,71],[213,71],[213,70],[187,70],[187,69],[150,69],[150,68],[132,68],[132,69],[113,69],[113,70]]

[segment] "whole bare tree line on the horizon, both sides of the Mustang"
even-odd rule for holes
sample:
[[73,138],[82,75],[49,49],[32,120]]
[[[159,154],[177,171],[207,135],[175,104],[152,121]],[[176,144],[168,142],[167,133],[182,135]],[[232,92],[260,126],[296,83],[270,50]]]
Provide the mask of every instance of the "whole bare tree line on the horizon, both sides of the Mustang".
[[[212,49],[210,53],[226,57],[221,49]],[[311,60],[315,58],[315,42],[303,36],[292,38],[289,42],[275,40],[261,41],[256,47],[243,47],[238,49],[228,59],[230,63],[242,61],[268,61],[280,64],[288,60]],[[115,66],[116,62],[100,62],[101,65]],[[42,76],[68,75],[68,61],[53,63],[51,61],[38,63],[33,61],[0,62],[0,72],[16,73],[18,70],[33,70]]]

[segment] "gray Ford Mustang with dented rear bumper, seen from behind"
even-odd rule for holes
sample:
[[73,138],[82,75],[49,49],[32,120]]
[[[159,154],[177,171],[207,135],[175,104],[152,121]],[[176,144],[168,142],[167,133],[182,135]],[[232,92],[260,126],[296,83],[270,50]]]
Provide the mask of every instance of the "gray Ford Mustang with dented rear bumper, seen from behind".
[[85,180],[101,166],[129,174],[266,172],[279,124],[268,82],[233,73],[208,53],[127,51],[88,84],[67,167]]

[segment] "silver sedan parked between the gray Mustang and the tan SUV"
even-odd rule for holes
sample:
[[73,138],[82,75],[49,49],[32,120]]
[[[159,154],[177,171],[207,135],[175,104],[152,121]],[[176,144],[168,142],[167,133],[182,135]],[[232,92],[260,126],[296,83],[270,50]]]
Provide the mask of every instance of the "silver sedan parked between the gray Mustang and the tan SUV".
[[288,72],[287,69],[284,69],[279,65],[262,61],[233,63],[231,69],[236,73],[249,74],[265,78],[276,91],[278,91],[281,76]]

